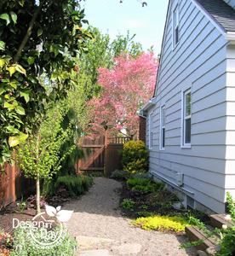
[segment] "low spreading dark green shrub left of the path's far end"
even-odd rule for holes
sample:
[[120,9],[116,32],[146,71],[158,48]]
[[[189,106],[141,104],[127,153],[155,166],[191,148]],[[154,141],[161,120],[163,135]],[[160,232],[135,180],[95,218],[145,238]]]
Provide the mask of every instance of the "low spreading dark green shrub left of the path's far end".
[[93,178],[83,175],[76,176],[60,176],[54,183],[54,189],[60,189],[64,187],[71,195],[81,195],[85,191],[89,190],[89,187],[93,183]]

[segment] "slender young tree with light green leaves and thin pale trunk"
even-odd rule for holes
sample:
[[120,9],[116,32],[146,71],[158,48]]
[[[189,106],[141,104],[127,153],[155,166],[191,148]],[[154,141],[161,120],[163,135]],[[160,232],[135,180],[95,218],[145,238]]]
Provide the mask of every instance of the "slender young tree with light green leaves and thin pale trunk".
[[46,115],[40,121],[37,133],[30,135],[26,141],[20,143],[17,150],[17,165],[25,172],[25,177],[36,179],[37,204],[36,214],[40,212],[40,179],[50,179],[60,170],[60,162],[75,148],[73,145],[60,155],[60,147],[69,137],[72,137],[71,125],[64,131],[61,128],[69,105],[60,102],[47,109]]

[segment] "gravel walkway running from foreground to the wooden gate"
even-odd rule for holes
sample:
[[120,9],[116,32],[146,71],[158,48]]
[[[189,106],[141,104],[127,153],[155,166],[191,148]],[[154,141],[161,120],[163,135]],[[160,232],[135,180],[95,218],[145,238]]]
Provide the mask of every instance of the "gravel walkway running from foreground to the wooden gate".
[[106,249],[109,255],[116,256],[196,255],[197,250],[193,247],[179,249],[186,236],[166,235],[131,226],[130,219],[123,218],[118,208],[118,189],[121,187],[116,180],[96,177],[86,195],[63,207],[63,210],[74,211],[66,227],[72,237],[77,237],[77,255],[91,249]]

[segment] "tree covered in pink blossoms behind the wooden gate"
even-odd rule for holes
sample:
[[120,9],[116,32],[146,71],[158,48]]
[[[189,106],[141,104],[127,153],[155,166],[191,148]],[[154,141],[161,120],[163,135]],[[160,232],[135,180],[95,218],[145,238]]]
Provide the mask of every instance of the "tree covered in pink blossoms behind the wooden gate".
[[158,72],[158,60],[152,53],[136,58],[120,55],[114,58],[114,67],[98,69],[100,95],[87,106],[89,137],[103,133],[103,122],[112,123],[112,134],[121,132],[138,135],[138,113],[153,95]]

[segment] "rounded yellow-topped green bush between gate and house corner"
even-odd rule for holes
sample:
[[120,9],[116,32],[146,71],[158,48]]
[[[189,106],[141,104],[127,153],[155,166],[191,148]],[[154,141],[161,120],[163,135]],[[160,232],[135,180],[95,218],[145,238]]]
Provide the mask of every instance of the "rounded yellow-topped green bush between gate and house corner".
[[125,172],[147,172],[148,151],[143,142],[130,141],[124,144],[122,154],[122,165]]

